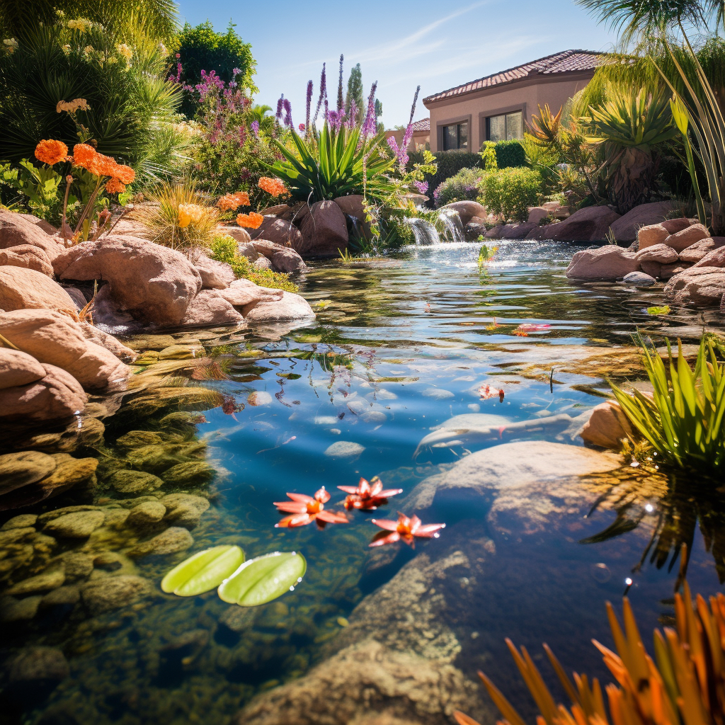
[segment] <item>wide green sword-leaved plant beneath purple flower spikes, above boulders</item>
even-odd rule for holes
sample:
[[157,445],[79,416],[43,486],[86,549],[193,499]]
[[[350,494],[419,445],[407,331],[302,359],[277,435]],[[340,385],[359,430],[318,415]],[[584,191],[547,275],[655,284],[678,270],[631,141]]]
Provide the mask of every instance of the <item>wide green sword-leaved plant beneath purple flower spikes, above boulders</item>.
[[307,140],[292,130],[291,140],[297,153],[275,141],[284,159],[270,165],[270,170],[289,188],[292,199],[313,203],[347,194],[383,199],[392,191],[384,174],[394,164],[393,159],[379,152],[383,138],[378,133],[360,144],[357,126],[343,125],[335,132],[327,123],[314,138]]

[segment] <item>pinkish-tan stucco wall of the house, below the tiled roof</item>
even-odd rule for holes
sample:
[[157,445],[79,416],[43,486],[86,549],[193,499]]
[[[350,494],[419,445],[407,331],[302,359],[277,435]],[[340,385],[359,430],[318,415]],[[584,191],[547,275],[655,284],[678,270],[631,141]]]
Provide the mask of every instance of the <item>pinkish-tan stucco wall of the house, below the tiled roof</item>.
[[533,78],[485,88],[455,99],[426,103],[431,112],[431,151],[442,150],[444,126],[468,121],[468,151],[478,152],[486,141],[487,117],[522,111],[524,121],[531,123],[531,114],[538,113],[539,106],[549,104],[552,112],[558,112],[571,96],[589,83],[593,75],[594,71],[567,73],[566,78],[534,75]]

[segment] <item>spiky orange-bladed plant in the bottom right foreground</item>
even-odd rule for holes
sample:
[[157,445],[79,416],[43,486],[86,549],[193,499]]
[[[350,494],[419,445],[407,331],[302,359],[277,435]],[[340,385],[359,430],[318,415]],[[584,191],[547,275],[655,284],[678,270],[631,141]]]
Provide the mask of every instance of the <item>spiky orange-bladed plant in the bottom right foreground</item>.
[[[574,682],[552,650],[544,645],[547,657],[568,697],[571,707],[556,704],[544,684],[534,660],[510,639],[506,644],[521,676],[542,713],[540,725],[721,725],[725,712],[725,596],[697,595],[693,606],[687,582],[683,594],[675,595],[676,629],[655,629],[655,656],[647,655],[639,635],[629,600],[624,598],[624,630],[612,605],[607,614],[617,653],[596,640],[597,650],[618,684],[605,688],[610,716],[607,715],[599,681],[574,673]],[[523,718],[500,690],[482,672],[479,677],[502,713],[503,725],[525,725]],[[477,725],[464,713],[454,713],[459,725]]]

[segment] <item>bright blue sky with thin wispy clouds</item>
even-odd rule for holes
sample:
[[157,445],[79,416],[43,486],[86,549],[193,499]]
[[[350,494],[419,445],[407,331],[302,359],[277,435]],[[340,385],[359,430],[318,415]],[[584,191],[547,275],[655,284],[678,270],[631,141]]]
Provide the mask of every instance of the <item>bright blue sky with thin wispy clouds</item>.
[[[179,0],[182,20],[231,19],[257,59],[256,100],[292,103],[305,120],[307,80],[318,91],[323,62],[336,97],[338,62],[345,80],[360,63],[365,94],[378,80],[386,128],[407,123],[415,87],[421,99],[483,75],[570,49],[611,49],[615,40],[571,0]],[[428,115],[422,103],[415,118]]]

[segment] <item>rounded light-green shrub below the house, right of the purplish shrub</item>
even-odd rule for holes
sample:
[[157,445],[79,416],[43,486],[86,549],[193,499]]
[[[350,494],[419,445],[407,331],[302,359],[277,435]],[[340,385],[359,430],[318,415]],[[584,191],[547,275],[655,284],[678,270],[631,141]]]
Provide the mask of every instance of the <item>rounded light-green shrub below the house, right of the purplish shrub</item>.
[[542,178],[539,172],[526,167],[484,171],[481,174],[481,203],[505,220],[523,221],[529,207],[539,203]]

